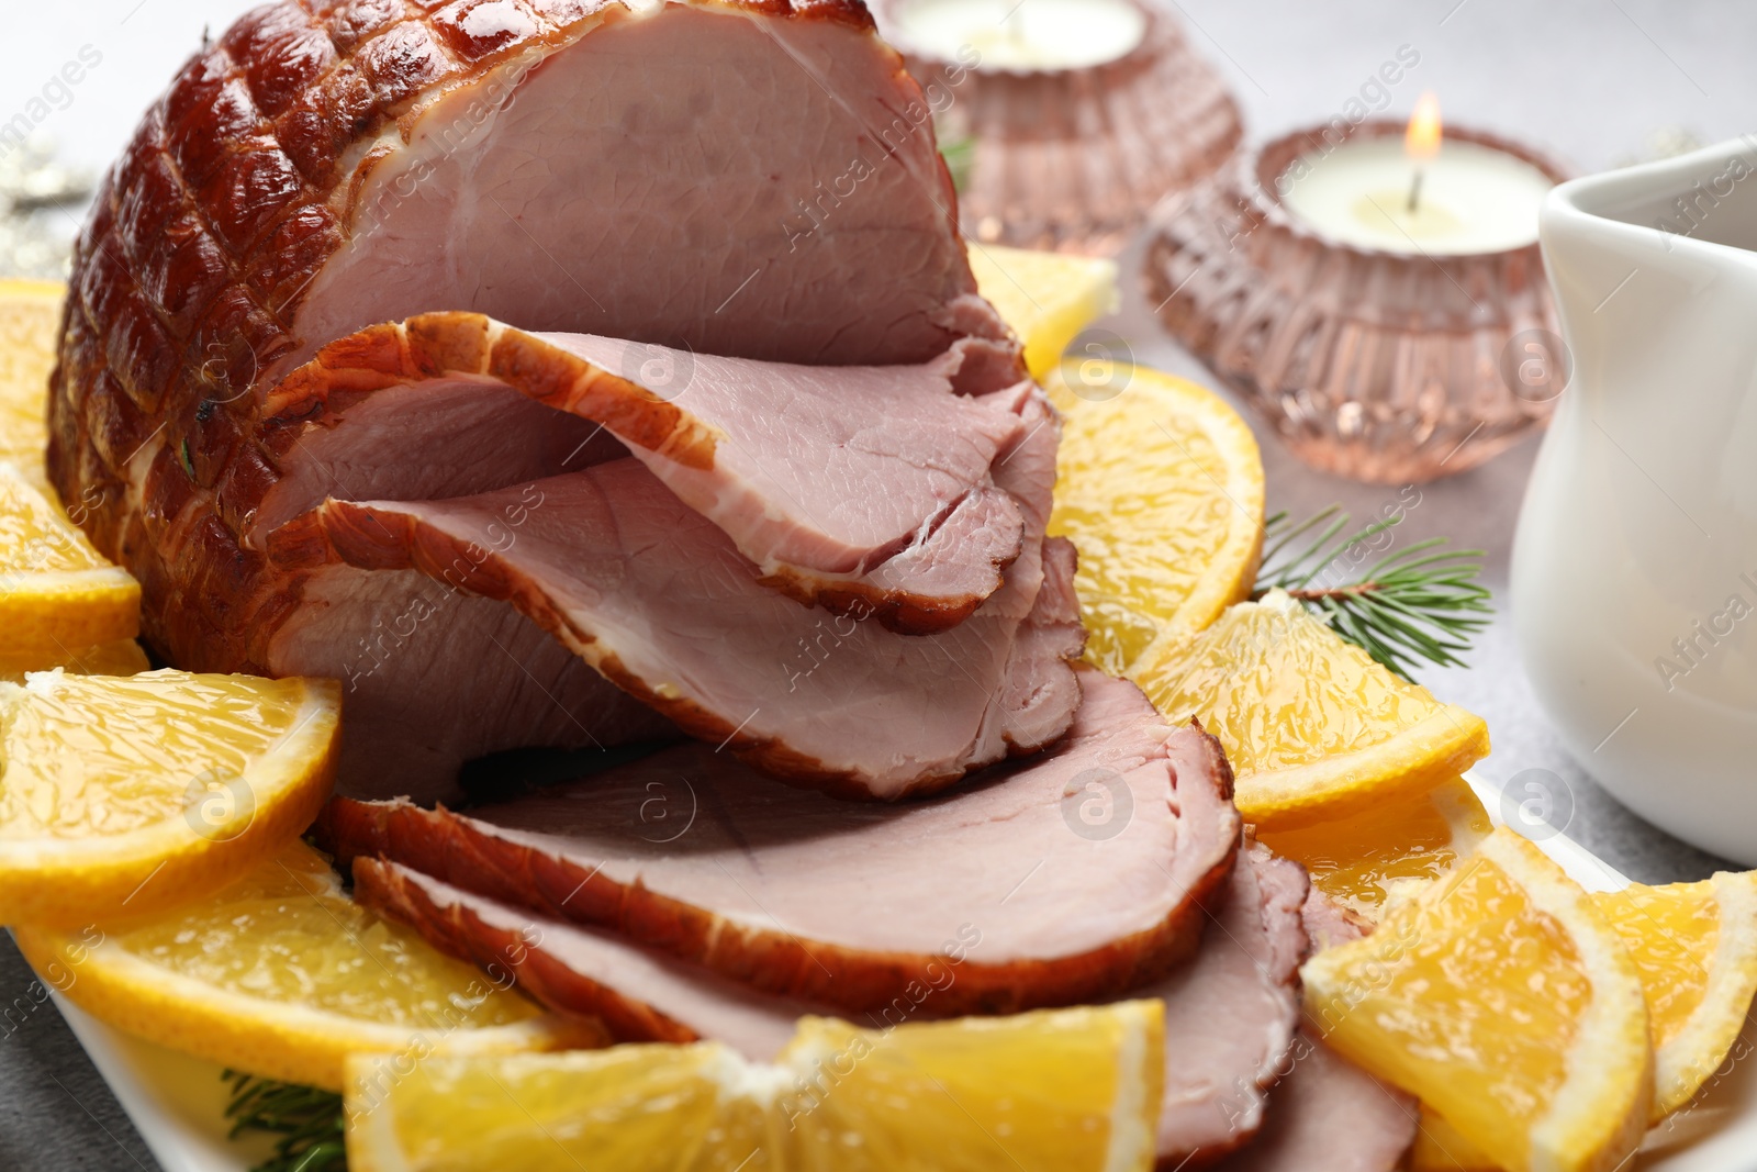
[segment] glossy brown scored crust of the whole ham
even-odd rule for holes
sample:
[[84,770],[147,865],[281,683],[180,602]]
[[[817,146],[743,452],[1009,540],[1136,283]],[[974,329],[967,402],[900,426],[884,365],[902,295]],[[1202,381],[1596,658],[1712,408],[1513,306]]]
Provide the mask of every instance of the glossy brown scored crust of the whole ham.
[[[763,25],[770,39],[782,25],[819,40],[828,33],[805,26],[843,28],[863,42],[849,51],[873,76],[889,70],[900,93],[919,98],[856,0],[671,7],[703,19],[759,18],[740,25]],[[650,26],[643,35],[662,33],[652,18],[587,0],[286,0],[204,47],[148,111],[76,250],[51,380],[49,469],[98,548],[141,578],[146,636],[172,662],[271,671],[269,641],[300,606],[302,578],[276,573],[241,541],[279,478],[255,392],[329,341],[300,336],[300,313],[313,307],[325,267],[360,246],[374,170],[408,155],[422,114],[450,95],[476,88],[492,105],[504,100],[492,88],[497,70],[522,54],[541,63],[517,84],[594,30],[636,23]],[[922,158],[926,149],[931,137]],[[949,204],[944,167],[935,179],[942,190],[928,199]],[[951,227],[945,237],[956,241]],[[968,316],[952,306],[973,295],[968,267],[947,272],[933,278],[947,313]],[[387,316],[395,313],[372,320]],[[944,341],[956,334],[949,325]]]

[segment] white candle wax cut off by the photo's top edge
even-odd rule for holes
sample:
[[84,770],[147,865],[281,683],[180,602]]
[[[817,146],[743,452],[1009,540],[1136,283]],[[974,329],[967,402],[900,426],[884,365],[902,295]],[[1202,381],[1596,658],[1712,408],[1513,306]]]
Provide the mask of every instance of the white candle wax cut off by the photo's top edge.
[[1091,69],[1128,56],[1147,33],[1147,14],[1130,0],[908,0],[896,16],[907,47],[979,69]]

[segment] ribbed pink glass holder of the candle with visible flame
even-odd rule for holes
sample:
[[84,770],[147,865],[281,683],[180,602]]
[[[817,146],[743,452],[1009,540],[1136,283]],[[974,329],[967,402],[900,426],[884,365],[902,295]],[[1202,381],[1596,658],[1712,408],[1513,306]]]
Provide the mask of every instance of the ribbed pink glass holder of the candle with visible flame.
[[[1284,202],[1290,167],[1404,125],[1240,153],[1153,216],[1144,285],[1167,330],[1307,464],[1376,483],[1460,473],[1543,427],[1567,385],[1537,241],[1442,255],[1341,242]],[[1565,176],[1493,135],[1464,141]]]

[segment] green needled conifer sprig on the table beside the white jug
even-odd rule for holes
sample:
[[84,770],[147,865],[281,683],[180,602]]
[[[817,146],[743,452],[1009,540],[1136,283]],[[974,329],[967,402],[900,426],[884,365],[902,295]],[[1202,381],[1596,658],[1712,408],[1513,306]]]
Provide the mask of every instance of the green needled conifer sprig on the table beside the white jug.
[[[1402,513],[1339,538],[1349,522],[1341,504],[1297,525],[1288,513],[1276,513],[1263,525],[1263,568],[1251,597],[1286,590],[1406,680],[1421,661],[1465,666],[1458,655],[1471,650],[1471,636],[1493,613],[1488,587],[1476,582],[1481,550],[1434,552],[1446,538],[1428,538],[1349,573],[1372,552],[1372,539],[1400,520]],[[1314,531],[1316,538],[1300,541]]]

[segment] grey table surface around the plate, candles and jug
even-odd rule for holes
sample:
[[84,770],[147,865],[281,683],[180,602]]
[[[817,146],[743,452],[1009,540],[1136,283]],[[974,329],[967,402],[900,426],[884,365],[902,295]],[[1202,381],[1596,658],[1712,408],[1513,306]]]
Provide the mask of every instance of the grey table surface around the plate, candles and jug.
[[[1362,91],[1400,46],[1421,61],[1388,97],[1407,111],[1435,90],[1448,119],[1532,142],[1576,172],[1643,158],[1687,134],[1703,142],[1757,128],[1757,4],[1748,0],[1165,0],[1193,44],[1228,77],[1247,134],[1327,119]],[[44,130],[77,163],[100,169],[141,109],[199,44],[248,0],[83,0],[7,12],[0,121],[42,83],[95,46],[102,63],[56,109]],[[72,225],[69,225],[70,228]],[[1142,304],[1133,250],[1123,258],[1124,306],[1107,325],[1140,362],[1207,385],[1212,376],[1154,325]],[[1270,508],[1312,510],[1332,501],[1374,515],[1397,488],[1314,473],[1260,436]],[[1423,485],[1400,539],[1439,534],[1488,552],[1486,582],[1508,582],[1520,496],[1537,443],[1490,464]],[[1506,617],[1486,631],[1467,669],[1430,671],[1444,699],[1488,719],[1495,752],[1479,770],[1502,784],[1550,770],[1573,803],[1567,833],[1636,880],[1701,879],[1720,863],[1653,829],[1594,784],[1562,749],[1520,668]],[[49,1005],[35,1005],[33,975],[0,940],[0,1170],[158,1168],[128,1118]]]

